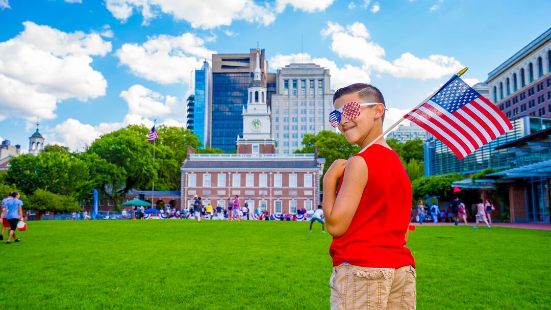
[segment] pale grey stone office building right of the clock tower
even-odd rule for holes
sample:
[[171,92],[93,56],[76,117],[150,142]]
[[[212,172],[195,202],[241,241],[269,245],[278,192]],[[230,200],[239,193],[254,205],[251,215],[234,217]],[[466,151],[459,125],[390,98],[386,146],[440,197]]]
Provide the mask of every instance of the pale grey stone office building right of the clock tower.
[[333,130],[328,121],[333,107],[329,69],[314,63],[291,63],[277,70],[272,95],[272,133],[278,154],[300,149],[304,135]]

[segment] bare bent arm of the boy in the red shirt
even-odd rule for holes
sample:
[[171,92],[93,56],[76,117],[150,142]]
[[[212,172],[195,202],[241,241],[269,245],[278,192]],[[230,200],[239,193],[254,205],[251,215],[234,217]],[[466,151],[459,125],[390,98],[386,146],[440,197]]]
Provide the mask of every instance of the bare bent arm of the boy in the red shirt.
[[[368,166],[363,158],[354,156],[343,161],[333,162],[323,177],[323,215],[327,231],[333,237],[340,237],[348,230],[368,183]],[[348,168],[344,172],[341,190],[337,195],[337,180],[345,166]]]

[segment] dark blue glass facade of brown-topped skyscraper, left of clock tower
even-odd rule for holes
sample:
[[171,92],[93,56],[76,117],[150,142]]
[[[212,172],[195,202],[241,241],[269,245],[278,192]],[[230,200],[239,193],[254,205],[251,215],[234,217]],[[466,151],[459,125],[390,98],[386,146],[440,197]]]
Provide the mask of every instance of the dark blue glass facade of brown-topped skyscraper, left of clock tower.
[[243,107],[251,73],[212,74],[212,147],[235,151],[237,135],[243,134]]

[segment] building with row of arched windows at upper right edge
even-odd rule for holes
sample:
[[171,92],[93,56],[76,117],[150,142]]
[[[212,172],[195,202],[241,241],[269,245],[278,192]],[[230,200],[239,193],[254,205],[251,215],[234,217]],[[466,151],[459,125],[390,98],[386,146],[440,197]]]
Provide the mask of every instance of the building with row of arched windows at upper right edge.
[[551,117],[551,28],[488,74],[492,100],[508,118]]

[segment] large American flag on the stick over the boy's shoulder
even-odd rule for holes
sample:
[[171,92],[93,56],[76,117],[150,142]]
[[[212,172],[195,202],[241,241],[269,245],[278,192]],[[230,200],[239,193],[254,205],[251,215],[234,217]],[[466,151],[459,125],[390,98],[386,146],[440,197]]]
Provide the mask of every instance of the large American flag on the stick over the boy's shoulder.
[[404,118],[433,134],[459,159],[512,129],[498,107],[456,75]]

